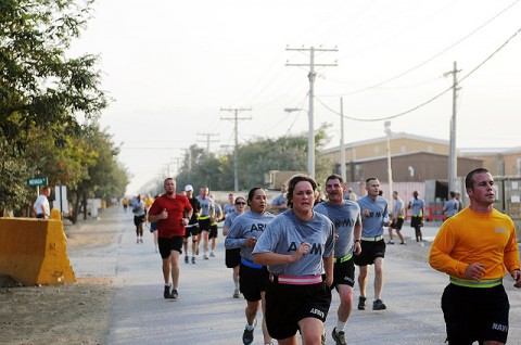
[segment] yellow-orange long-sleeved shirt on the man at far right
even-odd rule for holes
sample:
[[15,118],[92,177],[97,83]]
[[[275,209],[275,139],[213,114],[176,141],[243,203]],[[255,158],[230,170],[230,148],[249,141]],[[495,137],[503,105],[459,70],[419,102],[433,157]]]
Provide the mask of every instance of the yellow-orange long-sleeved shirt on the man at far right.
[[503,278],[519,268],[518,243],[512,219],[494,209],[479,214],[465,208],[448,218],[432,243],[429,264],[456,278],[466,278],[469,264],[485,268],[482,280]]

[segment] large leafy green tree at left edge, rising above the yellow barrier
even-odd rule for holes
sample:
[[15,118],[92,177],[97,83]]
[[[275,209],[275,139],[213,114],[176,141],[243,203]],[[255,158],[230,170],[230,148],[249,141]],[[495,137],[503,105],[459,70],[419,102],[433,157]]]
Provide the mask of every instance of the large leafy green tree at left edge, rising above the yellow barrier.
[[[7,192],[2,195],[10,195],[9,200],[0,199],[1,207],[18,205],[27,196],[26,178],[33,171],[68,173],[69,181],[75,171],[81,176],[80,167],[65,167],[71,161],[52,165],[40,159],[35,165],[24,157],[29,138],[42,129],[58,148],[71,148],[72,138],[81,132],[76,116],[97,118],[107,105],[96,69],[98,58],[86,54],[68,59],[65,54],[85,27],[91,4],[91,0],[82,5],[75,0],[1,1],[0,151],[4,164],[0,190]],[[24,178],[13,179],[15,174]]]

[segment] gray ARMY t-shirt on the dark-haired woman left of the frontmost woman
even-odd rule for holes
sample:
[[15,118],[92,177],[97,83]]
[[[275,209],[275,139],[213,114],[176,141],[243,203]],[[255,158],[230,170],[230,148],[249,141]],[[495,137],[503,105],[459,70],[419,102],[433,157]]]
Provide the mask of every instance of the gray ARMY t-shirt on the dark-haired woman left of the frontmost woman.
[[230,232],[226,237],[225,247],[227,250],[241,248],[241,257],[253,261],[252,250],[246,246],[247,238],[258,238],[266,230],[266,225],[275,218],[274,214],[265,212],[257,214],[247,210],[233,219]]

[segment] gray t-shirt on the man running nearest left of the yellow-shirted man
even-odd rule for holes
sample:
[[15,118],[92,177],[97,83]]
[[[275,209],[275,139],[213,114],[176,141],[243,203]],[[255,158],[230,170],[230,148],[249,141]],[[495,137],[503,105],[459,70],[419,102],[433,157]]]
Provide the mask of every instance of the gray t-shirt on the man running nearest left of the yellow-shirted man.
[[383,196],[377,196],[377,200],[368,195],[359,197],[356,203],[360,206],[360,212],[369,209],[369,216],[361,218],[361,235],[365,238],[380,237],[383,234],[383,218],[389,218],[387,201]]

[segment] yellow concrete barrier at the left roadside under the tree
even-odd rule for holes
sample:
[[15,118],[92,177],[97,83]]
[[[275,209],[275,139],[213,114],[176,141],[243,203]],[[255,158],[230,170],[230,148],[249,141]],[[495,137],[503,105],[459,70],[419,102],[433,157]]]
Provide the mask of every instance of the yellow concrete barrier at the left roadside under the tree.
[[63,222],[0,218],[0,273],[24,285],[75,282]]

